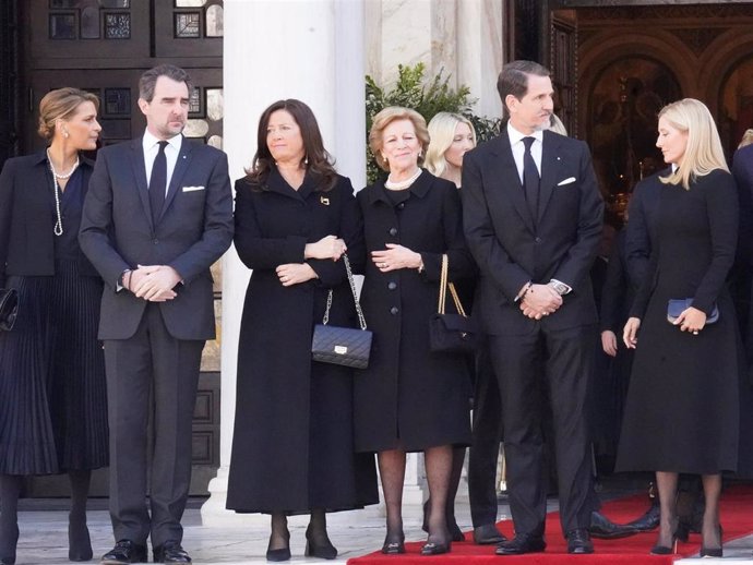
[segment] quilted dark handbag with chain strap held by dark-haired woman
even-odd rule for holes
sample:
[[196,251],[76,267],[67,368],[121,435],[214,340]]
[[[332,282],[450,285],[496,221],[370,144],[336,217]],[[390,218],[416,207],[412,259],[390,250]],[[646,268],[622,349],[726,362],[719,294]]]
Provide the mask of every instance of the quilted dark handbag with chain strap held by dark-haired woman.
[[348,282],[350,282],[350,291],[356,302],[356,312],[358,312],[358,322],[361,328],[331,326],[327,324],[330,322],[330,309],[332,308],[332,289],[330,289],[324,320],[322,320],[321,324],[314,326],[313,339],[311,340],[311,357],[314,361],[323,363],[334,363],[351,369],[366,369],[369,366],[372,334],[366,328],[366,318],[363,317],[361,305],[358,303],[356,284],[352,280],[348,255],[344,254],[343,261],[348,273]]

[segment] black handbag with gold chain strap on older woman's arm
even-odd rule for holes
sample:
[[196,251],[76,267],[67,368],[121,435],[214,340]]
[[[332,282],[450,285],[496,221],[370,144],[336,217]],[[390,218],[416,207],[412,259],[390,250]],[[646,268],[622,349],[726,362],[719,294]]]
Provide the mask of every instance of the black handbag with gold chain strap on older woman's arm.
[[[437,353],[471,353],[478,345],[478,329],[468,317],[457,296],[455,285],[447,281],[449,260],[442,255],[439,304],[437,313],[429,318],[429,348]],[[452,294],[457,314],[445,313],[447,289]]]

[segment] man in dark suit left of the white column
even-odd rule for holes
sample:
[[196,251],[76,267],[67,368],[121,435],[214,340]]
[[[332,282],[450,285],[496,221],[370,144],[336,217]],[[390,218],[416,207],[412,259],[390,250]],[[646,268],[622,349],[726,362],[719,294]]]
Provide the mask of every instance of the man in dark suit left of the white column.
[[180,525],[191,420],[202,349],[215,335],[210,266],[232,239],[232,196],[225,154],[181,134],[189,92],[189,75],[177,67],[142,75],[146,131],[99,151],[84,203],[79,239],[105,279],[99,338],[117,540],[107,564],[147,561],[150,536],[155,562],[191,561]]

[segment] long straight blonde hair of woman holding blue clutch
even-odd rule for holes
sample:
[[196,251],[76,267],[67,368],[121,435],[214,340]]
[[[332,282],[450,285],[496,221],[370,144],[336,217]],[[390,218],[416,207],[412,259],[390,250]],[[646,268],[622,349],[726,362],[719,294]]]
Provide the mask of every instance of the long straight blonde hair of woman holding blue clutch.
[[683,98],[661,108],[659,118],[688,135],[682,163],[668,177],[659,177],[665,184],[682,184],[690,189],[691,180],[715,169],[729,172],[716,123],[706,105],[695,98]]

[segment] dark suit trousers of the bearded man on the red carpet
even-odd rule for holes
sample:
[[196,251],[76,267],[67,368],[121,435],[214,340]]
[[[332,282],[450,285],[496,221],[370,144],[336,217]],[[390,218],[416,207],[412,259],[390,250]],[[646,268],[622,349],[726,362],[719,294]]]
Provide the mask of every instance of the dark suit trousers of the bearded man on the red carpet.
[[489,337],[502,398],[507,494],[517,533],[543,533],[542,387],[551,400],[562,531],[590,525],[594,496],[587,398],[594,333],[594,326],[551,330],[538,324],[533,334]]

